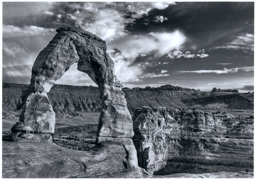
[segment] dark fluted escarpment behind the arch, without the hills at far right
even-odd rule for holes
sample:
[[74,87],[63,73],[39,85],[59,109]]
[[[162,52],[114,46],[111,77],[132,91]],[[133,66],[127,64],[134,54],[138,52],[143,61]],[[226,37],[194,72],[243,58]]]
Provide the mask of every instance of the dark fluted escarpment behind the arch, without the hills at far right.
[[[22,108],[20,95],[28,85],[3,83],[3,110]],[[168,90],[122,89],[130,111],[138,106],[187,107],[179,100],[178,93]],[[101,100],[98,87],[55,84],[47,93],[55,113],[100,112]]]

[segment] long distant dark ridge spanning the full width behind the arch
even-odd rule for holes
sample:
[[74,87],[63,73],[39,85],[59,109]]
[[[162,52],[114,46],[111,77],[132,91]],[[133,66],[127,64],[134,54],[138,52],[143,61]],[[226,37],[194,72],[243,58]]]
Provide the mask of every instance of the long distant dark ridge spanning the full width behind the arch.
[[[5,111],[21,111],[20,95],[28,85],[2,83]],[[168,87],[170,87],[168,89]],[[174,89],[174,90],[173,90]],[[178,89],[178,90],[176,90]],[[189,88],[162,86],[159,88],[123,88],[127,107],[132,113],[139,106],[163,106],[176,109],[221,111],[230,114],[253,115],[254,93],[202,92]],[[48,98],[56,114],[79,115],[80,112],[100,112],[98,87],[53,85]],[[240,112],[236,113],[236,111]],[[249,110],[249,111],[248,111]]]

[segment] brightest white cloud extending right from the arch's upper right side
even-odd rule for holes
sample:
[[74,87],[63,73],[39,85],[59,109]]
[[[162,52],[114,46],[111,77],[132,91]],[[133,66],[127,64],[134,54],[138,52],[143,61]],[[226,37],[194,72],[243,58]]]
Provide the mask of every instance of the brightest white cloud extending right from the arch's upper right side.
[[151,54],[152,51],[156,56],[163,55],[171,50],[179,49],[185,41],[186,37],[178,30],[168,33],[151,32],[145,35],[131,35],[114,40],[108,45],[107,52],[115,62],[115,74],[121,83],[140,82],[142,78],[163,77],[168,76],[168,74],[143,74],[143,69],[146,68],[145,65],[149,63],[134,65],[133,62],[136,57],[145,57],[145,55]]

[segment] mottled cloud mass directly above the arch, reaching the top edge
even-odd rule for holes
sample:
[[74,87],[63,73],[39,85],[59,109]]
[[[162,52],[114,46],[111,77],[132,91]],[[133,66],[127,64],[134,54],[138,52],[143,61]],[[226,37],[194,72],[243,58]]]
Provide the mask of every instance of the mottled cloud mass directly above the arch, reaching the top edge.
[[[56,3],[58,20],[71,20],[106,42],[128,35],[126,25],[147,14],[150,10],[164,9],[174,2],[77,2]],[[63,6],[62,11],[60,7]],[[65,8],[64,8],[65,7]],[[68,7],[68,8],[67,8]],[[55,14],[55,13],[54,13]],[[60,18],[62,18],[60,20]],[[58,22],[57,20],[57,22]]]

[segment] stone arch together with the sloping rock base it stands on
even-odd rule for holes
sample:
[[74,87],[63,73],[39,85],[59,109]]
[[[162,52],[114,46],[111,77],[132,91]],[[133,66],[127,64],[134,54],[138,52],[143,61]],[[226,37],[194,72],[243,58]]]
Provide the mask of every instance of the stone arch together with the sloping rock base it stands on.
[[[30,85],[22,91],[18,102],[18,107],[22,108],[19,121],[11,127],[10,133],[2,136],[2,140],[10,141],[3,143],[4,169],[7,170],[4,171],[4,176],[8,178],[72,176],[103,178],[115,177],[115,174],[118,174],[116,177],[119,178],[148,176],[148,172],[138,166],[136,149],[131,139],[134,135],[132,118],[121,89],[122,85],[114,75],[114,61],[106,52],[106,42],[78,28],[58,28],[56,31],[58,33],[36,57]],[[87,133],[82,133],[82,137],[76,136],[71,139],[64,138],[67,136],[63,134],[53,135],[56,116],[47,93],[56,80],[62,77],[74,63],[78,63],[78,70],[87,73],[98,85],[101,106],[96,140],[95,132],[92,138],[84,138]],[[86,103],[82,102],[82,104]],[[71,103],[65,99],[64,106],[69,108],[70,105]],[[72,107],[70,108],[69,111],[74,111]],[[69,127],[66,131],[70,133],[69,129],[72,130]],[[80,131],[88,129],[93,128],[84,127],[84,129],[80,128]],[[57,150],[54,148],[56,144],[48,146],[44,144],[52,143],[52,136],[59,145]],[[15,146],[14,143],[19,142],[22,143]],[[62,150],[60,146],[66,150]],[[70,156],[68,151],[70,146],[73,150],[83,150],[83,153],[79,156],[71,153],[72,160],[66,158],[65,161],[63,158]],[[10,152],[15,156],[10,157]],[[15,162],[17,157],[20,161]],[[69,166],[70,163],[72,168]],[[78,165],[81,163],[84,166],[82,170]],[[66,167],[72,169],[70,173],[66,173]]]

